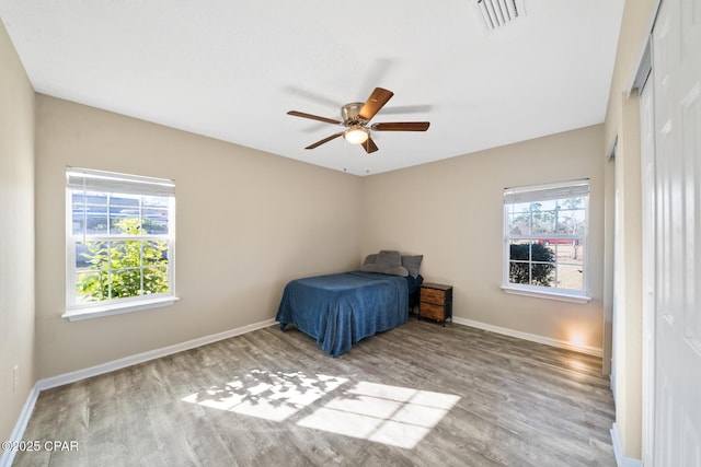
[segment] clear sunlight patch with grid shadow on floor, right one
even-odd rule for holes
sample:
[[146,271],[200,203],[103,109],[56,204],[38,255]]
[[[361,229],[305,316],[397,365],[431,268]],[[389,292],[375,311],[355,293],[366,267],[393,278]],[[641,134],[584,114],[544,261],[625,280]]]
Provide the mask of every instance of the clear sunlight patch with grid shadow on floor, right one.
[[450,394],[360,382],[298,424],[411,450],[458,400]]

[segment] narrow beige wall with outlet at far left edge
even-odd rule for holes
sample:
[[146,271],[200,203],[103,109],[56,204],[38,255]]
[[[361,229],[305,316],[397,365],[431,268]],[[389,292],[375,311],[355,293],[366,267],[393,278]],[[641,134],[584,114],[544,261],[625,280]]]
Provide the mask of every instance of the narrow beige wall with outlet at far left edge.
[[0,441],[4,441],[36,375],[34,90],[2,22],[0,63]]

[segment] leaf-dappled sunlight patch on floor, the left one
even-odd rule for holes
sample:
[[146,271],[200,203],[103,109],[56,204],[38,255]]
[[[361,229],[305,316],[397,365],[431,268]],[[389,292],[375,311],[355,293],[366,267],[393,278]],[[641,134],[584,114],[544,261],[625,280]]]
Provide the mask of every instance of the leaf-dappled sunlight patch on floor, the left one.
[[253,370],[223,387],[212,386],[182,400],[279,422],[345,382],[346,378],[327,375]]

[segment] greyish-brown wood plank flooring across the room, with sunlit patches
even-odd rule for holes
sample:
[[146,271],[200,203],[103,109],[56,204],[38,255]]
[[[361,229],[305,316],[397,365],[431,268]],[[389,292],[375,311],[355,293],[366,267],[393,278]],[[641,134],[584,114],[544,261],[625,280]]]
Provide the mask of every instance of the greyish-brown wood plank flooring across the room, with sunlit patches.
[[332,359],[294,327],[43,392],[13,466],[614,466],[600,359],[410,320]]

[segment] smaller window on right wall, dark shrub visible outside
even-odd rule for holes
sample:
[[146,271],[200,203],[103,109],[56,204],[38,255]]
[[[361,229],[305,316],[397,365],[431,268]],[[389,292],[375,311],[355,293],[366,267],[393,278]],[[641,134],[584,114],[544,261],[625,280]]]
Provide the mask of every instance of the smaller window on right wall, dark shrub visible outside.
[[504,190],[506,292],[582,303],[589,300],[588,201],[588,180]]

